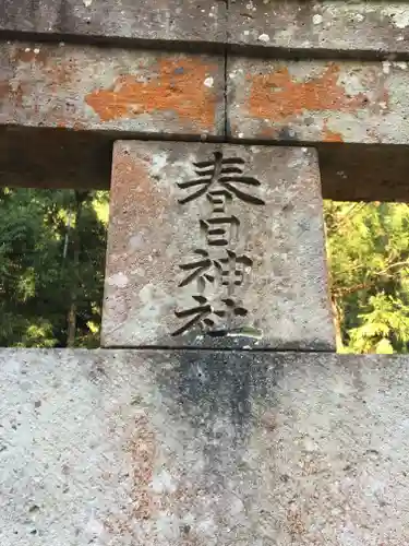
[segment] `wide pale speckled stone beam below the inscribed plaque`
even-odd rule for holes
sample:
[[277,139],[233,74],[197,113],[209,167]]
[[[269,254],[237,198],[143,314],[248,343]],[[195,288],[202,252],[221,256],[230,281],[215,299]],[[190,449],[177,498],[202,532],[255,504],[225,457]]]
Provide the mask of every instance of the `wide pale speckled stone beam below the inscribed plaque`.
[[409,359],[0,352],[2,546],[404,546]]

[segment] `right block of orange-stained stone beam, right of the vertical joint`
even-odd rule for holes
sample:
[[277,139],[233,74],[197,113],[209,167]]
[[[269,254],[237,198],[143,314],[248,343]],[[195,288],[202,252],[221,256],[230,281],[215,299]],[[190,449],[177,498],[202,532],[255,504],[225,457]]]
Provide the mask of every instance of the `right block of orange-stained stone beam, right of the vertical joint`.
[[408,144],[406,62],[230,58],[228,121],[244,139]]

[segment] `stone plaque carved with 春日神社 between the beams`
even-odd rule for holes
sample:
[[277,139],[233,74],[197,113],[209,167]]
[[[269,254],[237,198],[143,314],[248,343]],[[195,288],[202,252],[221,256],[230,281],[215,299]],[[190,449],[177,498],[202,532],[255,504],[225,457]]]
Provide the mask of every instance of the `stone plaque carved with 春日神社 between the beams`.
[[105,346],[332,349],[316,154],[117,142]]

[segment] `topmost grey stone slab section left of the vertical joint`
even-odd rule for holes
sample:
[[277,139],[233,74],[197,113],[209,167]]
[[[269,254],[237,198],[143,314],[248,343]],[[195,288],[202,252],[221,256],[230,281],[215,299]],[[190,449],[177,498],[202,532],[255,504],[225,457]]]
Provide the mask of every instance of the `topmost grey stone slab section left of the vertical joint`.
[[221,0],[2,0],[0,31],[104,39],[226,41]]

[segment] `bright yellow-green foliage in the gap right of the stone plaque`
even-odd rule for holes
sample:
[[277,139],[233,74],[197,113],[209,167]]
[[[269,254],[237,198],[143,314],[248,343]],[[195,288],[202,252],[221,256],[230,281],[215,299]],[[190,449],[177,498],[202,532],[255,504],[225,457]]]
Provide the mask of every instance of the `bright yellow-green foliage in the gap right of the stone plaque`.
[[409,349],[409,206],[325,203],[337,345],[344,353]]

